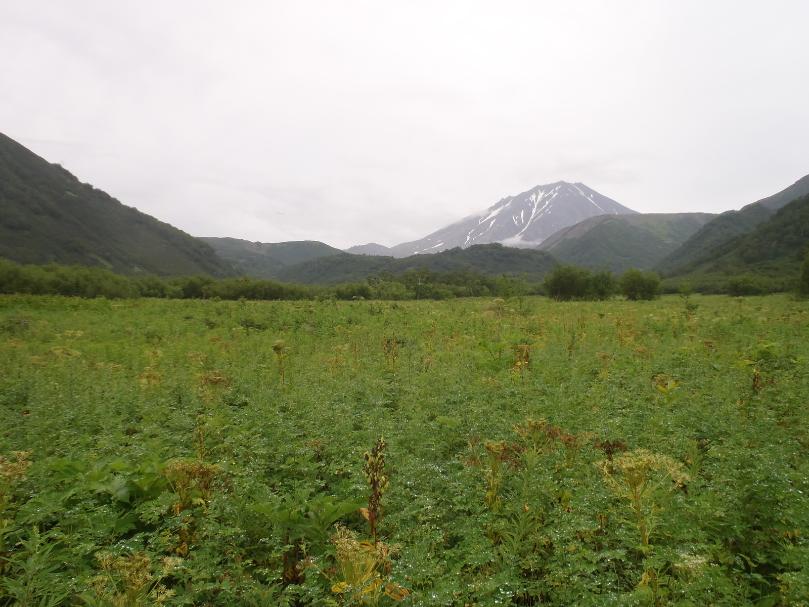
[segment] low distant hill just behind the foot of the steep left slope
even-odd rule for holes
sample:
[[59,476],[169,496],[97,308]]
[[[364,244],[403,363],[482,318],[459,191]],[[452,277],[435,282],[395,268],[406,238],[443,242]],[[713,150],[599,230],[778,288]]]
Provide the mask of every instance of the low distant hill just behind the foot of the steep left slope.
[[201,237],[210,244],[219,257],[227,259],[244,274],[252,278],[277,278],[287,265],[343,253],[339,248],[318,240],[291,240],[290,242],[261,243],[238,238]]

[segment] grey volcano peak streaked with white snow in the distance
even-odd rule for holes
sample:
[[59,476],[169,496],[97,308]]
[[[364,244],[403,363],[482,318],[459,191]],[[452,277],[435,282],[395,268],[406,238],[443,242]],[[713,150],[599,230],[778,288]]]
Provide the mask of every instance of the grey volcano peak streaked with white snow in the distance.
[[503,198],[483,213],[469,215],[421,240],[397,244],[395,257],[438,253],[447,248],[498,242],[509,247],[535,247],[554,232],[582,219],[605,214],[637,213],[584,184],[537,185]]

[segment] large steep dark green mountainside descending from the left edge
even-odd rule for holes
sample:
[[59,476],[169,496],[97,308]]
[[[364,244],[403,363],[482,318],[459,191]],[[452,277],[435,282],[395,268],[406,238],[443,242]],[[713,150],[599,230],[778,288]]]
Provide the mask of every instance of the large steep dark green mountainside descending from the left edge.
[[235,276],[210,245],[0,134],[0,257],[101,265],[121,274]]

